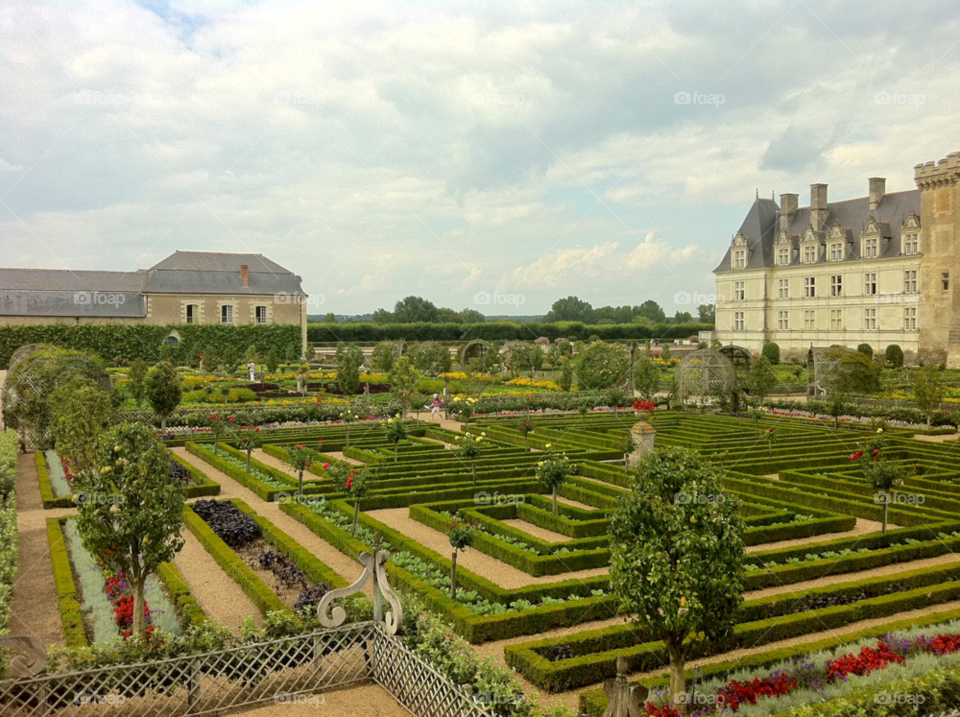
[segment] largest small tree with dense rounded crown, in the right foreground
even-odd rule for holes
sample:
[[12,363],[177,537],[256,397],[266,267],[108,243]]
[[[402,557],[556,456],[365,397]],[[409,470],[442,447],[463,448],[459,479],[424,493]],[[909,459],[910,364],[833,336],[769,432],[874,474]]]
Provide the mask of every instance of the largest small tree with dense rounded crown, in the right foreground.
[[685,709],[684,666],[699,640],[736,625],[743,517],[721,475],[686,448],[644,456],[611,519],[610,582],[620,614],[670,655],[670,695]]

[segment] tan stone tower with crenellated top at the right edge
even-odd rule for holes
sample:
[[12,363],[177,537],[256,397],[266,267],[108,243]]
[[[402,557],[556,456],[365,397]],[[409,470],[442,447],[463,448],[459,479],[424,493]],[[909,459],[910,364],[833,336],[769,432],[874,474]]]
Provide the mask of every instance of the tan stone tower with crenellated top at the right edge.
[[920,358],[960,368],[960,152],[914,170],[920,189]]

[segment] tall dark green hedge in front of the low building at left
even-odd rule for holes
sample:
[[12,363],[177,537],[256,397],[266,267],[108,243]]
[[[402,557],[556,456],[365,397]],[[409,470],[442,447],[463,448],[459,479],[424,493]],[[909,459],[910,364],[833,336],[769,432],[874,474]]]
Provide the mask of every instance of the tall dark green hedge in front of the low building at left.
[[281,356],[288,346],[300,354],[300,327],[293,324],[108,324],[68,326],[2,326],[0,327],[0,369],[9,368],[10,356],[24,344],[53,344],[76,351],[89,351],[112,361],[116,357],[132,361],[142,358],[151,363],[162,358],[161,345],[171,331],[180,334],[180,345],[174,350],[177,359],[187,359],[207,348],[218,353],[233,346],[243,356],[249,346],[261,354],[276,349]]

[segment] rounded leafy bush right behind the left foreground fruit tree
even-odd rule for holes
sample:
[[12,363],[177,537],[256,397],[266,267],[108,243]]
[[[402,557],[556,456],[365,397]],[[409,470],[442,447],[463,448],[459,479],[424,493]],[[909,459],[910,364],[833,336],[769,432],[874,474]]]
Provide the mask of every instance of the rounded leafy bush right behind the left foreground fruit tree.
[[61,384],[51,399],[57,451],[74,473],[89,473],[96,462],[97,442],[116,419],[110,394],[80,376]]

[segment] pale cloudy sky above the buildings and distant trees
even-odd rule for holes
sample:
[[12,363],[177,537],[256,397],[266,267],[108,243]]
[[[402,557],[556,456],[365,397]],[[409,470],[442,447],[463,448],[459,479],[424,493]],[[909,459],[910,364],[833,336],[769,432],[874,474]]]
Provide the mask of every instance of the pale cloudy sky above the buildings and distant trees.
[[757,192],[913,189],[958,109],[952,0],[4,0],[0,266],[251,252],[311,314],[695,313]]

